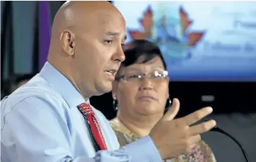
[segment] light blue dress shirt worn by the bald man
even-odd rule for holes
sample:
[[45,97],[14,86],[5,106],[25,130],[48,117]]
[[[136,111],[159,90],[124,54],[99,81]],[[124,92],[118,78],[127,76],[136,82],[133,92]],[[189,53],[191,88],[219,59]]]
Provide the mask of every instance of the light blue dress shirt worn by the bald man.
[[25,86],[1,101],[1,161],[162,162],[149,136],[119,148],[107,119],[93,108],[108,148],[95,153],[77,109],[83,102],[71,82],[45,63]]

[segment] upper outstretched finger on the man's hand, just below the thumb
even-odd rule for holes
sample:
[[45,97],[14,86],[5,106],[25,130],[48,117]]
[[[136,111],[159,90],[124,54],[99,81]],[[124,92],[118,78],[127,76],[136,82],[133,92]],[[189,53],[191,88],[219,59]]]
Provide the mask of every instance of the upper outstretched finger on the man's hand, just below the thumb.
[[185,120],[184,122],[186,125],[192,125],[193,123],[203,119],[203,117],[206,117],[208,114],[211,114],[211,112],[213,112],[213,108],[205,107],[203,109],[199,109],[196,112],[188,114],[185,117],[182,117],[182,120]]

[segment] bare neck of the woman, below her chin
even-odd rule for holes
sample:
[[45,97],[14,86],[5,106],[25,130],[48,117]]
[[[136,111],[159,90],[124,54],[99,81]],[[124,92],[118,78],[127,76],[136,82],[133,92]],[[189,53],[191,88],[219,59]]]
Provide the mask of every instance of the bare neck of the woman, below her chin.
[[158,122],[161,117],[162,114],[154,114],[150,116],[138,115],[137,117],[131,117],[118,112],[118,119],[120,122],[140,138],[149,135],[150,130],[156,125],[156,122]]

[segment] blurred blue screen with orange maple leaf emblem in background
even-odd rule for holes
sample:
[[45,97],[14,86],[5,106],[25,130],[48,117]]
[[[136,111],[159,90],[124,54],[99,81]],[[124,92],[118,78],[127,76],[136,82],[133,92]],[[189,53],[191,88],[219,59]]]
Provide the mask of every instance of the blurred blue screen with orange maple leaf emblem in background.
[[172,81],[256,81],[256,1],[113,1],[128,41],[164,54]]

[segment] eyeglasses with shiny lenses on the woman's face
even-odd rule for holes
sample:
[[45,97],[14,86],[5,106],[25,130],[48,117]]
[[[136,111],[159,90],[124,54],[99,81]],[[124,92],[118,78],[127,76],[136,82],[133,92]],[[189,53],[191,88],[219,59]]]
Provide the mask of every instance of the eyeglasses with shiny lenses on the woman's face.
[[145,77],[149,78],[151,81],[164,81],[166,78],[168,78],[168,71],[153,71],[147,74],[129,73],[127,75],[117,77],[115,80],[137,82],[142,81]]

